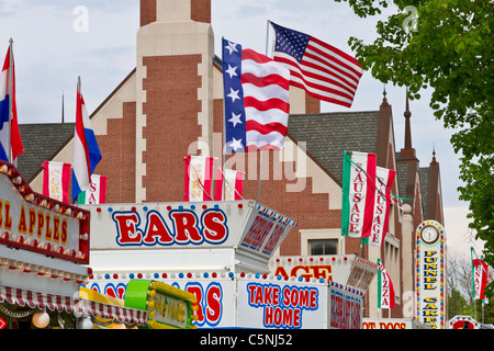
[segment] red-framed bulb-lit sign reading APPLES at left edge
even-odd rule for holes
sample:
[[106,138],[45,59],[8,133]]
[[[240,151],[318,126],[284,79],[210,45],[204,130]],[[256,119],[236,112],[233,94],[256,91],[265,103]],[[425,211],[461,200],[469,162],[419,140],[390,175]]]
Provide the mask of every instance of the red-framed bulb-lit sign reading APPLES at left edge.
[[89,263],[89,212],[33,192],[0,161],[0,245]]

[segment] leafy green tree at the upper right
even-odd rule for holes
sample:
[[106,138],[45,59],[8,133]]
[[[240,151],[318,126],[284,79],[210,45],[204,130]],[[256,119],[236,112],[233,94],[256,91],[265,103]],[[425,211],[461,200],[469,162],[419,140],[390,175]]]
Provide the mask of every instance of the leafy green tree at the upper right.
[[[471,228],[485,240],[494,267],[494,3],[490,0],[336,0],[361,18],[396,13],[377,24],[377,39],[350,37],[362,68],[386,83],[407,87],[411,99],[431,89],[436,118],[454,134],[460,156],[460,200],[469,202]],[[492,285],[492,284],[491,284]],[[492,286],[491,286],[492,287]],[[494,298],[492,295],[491,298]]]

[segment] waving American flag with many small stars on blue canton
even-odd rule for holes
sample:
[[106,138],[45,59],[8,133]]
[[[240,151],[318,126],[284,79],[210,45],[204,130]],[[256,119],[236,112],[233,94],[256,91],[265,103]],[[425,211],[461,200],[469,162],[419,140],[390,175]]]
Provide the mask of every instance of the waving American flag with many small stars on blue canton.
[[271,25],[276,33],[273,59],[290,68],[290,84],[316,99],[350,107],[362,77],[360,64],[311,35]]

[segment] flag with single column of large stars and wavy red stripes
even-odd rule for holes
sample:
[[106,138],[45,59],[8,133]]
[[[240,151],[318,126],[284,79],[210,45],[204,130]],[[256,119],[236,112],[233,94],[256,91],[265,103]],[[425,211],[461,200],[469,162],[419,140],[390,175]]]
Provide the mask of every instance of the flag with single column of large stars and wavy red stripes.
[[290,70],[223,38],[226,152],[279,150],[290,113]]

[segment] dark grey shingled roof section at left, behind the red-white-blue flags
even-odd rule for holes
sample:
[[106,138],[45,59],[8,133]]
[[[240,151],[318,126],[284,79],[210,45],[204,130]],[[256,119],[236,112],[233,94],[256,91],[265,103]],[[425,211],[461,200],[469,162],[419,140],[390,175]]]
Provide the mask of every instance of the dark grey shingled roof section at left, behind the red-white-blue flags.
[[19,156],[18,170],[31,182],[44,161],[52,160],[74,135],[75,123],[20,124],[24,152]]

